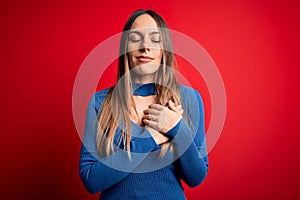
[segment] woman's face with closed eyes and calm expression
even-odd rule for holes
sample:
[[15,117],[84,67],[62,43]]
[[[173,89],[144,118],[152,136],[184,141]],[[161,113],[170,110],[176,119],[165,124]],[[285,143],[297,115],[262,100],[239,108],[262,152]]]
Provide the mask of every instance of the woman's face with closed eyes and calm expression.
[[148,14],[136,18],[128,38],[129,65],[139,78],[154,81],[162,58],[161,33]]

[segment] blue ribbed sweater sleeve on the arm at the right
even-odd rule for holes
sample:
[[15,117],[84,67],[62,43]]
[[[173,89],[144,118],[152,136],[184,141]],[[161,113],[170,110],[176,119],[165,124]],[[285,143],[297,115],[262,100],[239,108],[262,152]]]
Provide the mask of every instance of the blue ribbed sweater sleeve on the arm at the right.
[[195,187],[208,172],[203,101],[196,90],[187,87],[181,89],[181,96],[191,125],[181,119],[167,135],[172,138],[175,153],[179,157],[175,166],[180,177],[188,186]]

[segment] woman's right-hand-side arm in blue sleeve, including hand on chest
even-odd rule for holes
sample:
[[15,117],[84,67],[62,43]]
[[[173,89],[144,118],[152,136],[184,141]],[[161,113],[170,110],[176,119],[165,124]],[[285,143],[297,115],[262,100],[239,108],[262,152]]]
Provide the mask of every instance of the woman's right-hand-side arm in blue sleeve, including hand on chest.
[[200,94],[188,87],[181,88],[181,98],[189,125],[182,119],[179,105],[175,107],[172,102],[168,107],[149,105],[143,121],[172,139],[181,178],[195,187],[204,180],[208,170],[203,102]]

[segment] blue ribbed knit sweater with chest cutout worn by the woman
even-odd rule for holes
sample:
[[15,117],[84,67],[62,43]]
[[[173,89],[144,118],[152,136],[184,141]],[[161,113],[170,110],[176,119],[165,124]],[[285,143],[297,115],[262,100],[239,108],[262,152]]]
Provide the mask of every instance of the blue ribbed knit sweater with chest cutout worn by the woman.
[[[199,185],[206,177],[208,159],[204,131],[203,102],[199,93],[180,86],[181,102],[188,120],[181,119],[166,135],[173,151],[159,158],[160,145],[150,133],[134,122],[130,141],[131,159],[119,143],[121,125],[115,133],[115,150],[100,157],[96,149],[97,114],[109,90],[97,92],[87,114],[83,145],[80,152],[80,177],[86,189],[99,199],[185,199],[181,180],[188,186]],[[153,83],[134,85],[134,95],[155,94]]]

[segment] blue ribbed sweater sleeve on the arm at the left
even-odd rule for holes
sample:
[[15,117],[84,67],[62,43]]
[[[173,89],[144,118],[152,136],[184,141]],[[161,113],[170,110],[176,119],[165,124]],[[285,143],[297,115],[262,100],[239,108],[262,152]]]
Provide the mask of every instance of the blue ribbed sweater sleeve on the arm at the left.
[[[135,157],[134,161],[123,149],[119,149],[112,156],[99,156],[96,147],[97,114],[105,97],[106,94],[97,94],[89,102],[80,150],[79,174],[84,186],[92,194],[101,192],[123,180],[145,159],[147,152],[157,148],[150,133],[144,130],[140,133],[144,136],[143,139],[132,138],[130,141],[131,151],[142,153]],[[117,131],[120,130],[117,129]],[[130,164],[124,166],[124,163]]]

